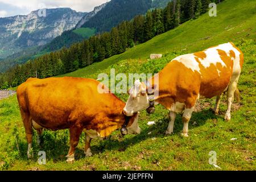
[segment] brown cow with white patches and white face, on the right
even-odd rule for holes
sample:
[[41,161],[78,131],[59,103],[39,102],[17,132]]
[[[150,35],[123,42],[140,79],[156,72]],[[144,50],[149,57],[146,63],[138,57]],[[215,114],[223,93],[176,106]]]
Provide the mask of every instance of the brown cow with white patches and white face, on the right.
[[233,43],[181,55],[159,72],[159,85],[155,84],[155,77],[146,84],[139,80],[135,81],[123,111],[126,115],[133,115],[143,109],[147,109],[148,113],[154,110],[149,96],[154,90],[148,93],[148,88],[156,86],[159,94],[154,98],[155,104],[162,104],[170,110],[170,123],[166,134],[174,131],[176,113],[183,113],[182,135],[188,137],[188,122],[200,96],[206,98],[217,96],[214,108],[217,114],[221,95],[228,91],[228,110],[225,119],[231,119],[230,109],[234,93],[239,94],[237,82],[242,65],[243,53]]

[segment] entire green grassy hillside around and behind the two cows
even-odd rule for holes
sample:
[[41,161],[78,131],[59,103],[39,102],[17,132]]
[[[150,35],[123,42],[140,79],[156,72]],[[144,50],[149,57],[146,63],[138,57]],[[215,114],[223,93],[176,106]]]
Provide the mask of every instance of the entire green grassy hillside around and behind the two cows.
[[[231,121],[224,121],[225,97],[218,116],[210,110],[214,99],[200,100],[189,123],[189,137],[180,136],[183,128],[180,115],[175,121],[174,134],[166,136],[168,111],[157,106],[153,115],[142,111],[140,135],[122,138],[116,131],[108,140],[93,140],[91,158],[85,158],[82,151],[85,138],[82,135],[76,150],[76,162],[65,163],[69,134],[64,130],[44,131],[42,147],[37,146],[34,137],[34,159],[27,160],[24,127],[14,96],[0,101],[0,169],[219,170],[208,163],[209,152],[216,151],[217,165],[223,170],[256,170],[256,16],[255,3],[252,2],[226,0],[218,7],[216,18],[204,15],[122,55],[65,75],[97,78],[98,73],[109,73],[111,68],[118,73],[155,73],[178,55],[233,41],[245,53],[245,65],[238,85],[242,101],[233,105]],[[208,36],[211,37],[205,39]],[[165,55],[162,59],[147,61],[150,53]],[[126,100],[127,95],[119,94],[118,97]],[[148,121],[155,121],[156,125],[148,126]],[[37,163],[36,154],[40,150],[47,154],[47,164],[43,166]]]

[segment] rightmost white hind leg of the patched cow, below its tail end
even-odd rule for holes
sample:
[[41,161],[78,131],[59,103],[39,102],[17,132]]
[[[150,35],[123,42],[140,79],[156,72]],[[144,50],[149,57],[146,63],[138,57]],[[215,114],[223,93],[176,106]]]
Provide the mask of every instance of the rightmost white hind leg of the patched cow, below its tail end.
[[234,92],[237,89],[238,78],[239,78],[239,76],[233,82],[230,82],[230,84],[229,84],[228,96],[227,96],[228,109],[226,110],[226,115],[225,115],[225,120],[226,121],[229,121],[231,119],[230,111],[231,111],[231,106],[232,106],[233,101],[234,101]]

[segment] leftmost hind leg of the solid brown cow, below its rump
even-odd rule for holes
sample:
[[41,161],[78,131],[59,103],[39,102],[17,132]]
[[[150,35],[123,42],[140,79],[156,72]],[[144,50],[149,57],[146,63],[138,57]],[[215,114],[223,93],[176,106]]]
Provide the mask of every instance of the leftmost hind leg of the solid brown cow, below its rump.
[[26,113],[20,108],[20,114],[22,115],[22,121],[25,128],[26,133],[26,139],[28,143],[27,148],[27,158],[31,159],[33,158],[33,152],[32,152],[32,137],[33,137],[33,129],[32,129],[32,118],[30,117],[29,113]]

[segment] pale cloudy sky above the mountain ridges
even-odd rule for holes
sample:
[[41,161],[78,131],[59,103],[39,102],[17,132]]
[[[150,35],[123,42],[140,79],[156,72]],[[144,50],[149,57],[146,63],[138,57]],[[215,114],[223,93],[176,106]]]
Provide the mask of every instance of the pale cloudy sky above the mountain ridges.
[[0,18],[27,15],[42,8],[70,7],[76,11],[90,12],[95,6],[109,0],[0,0]]

